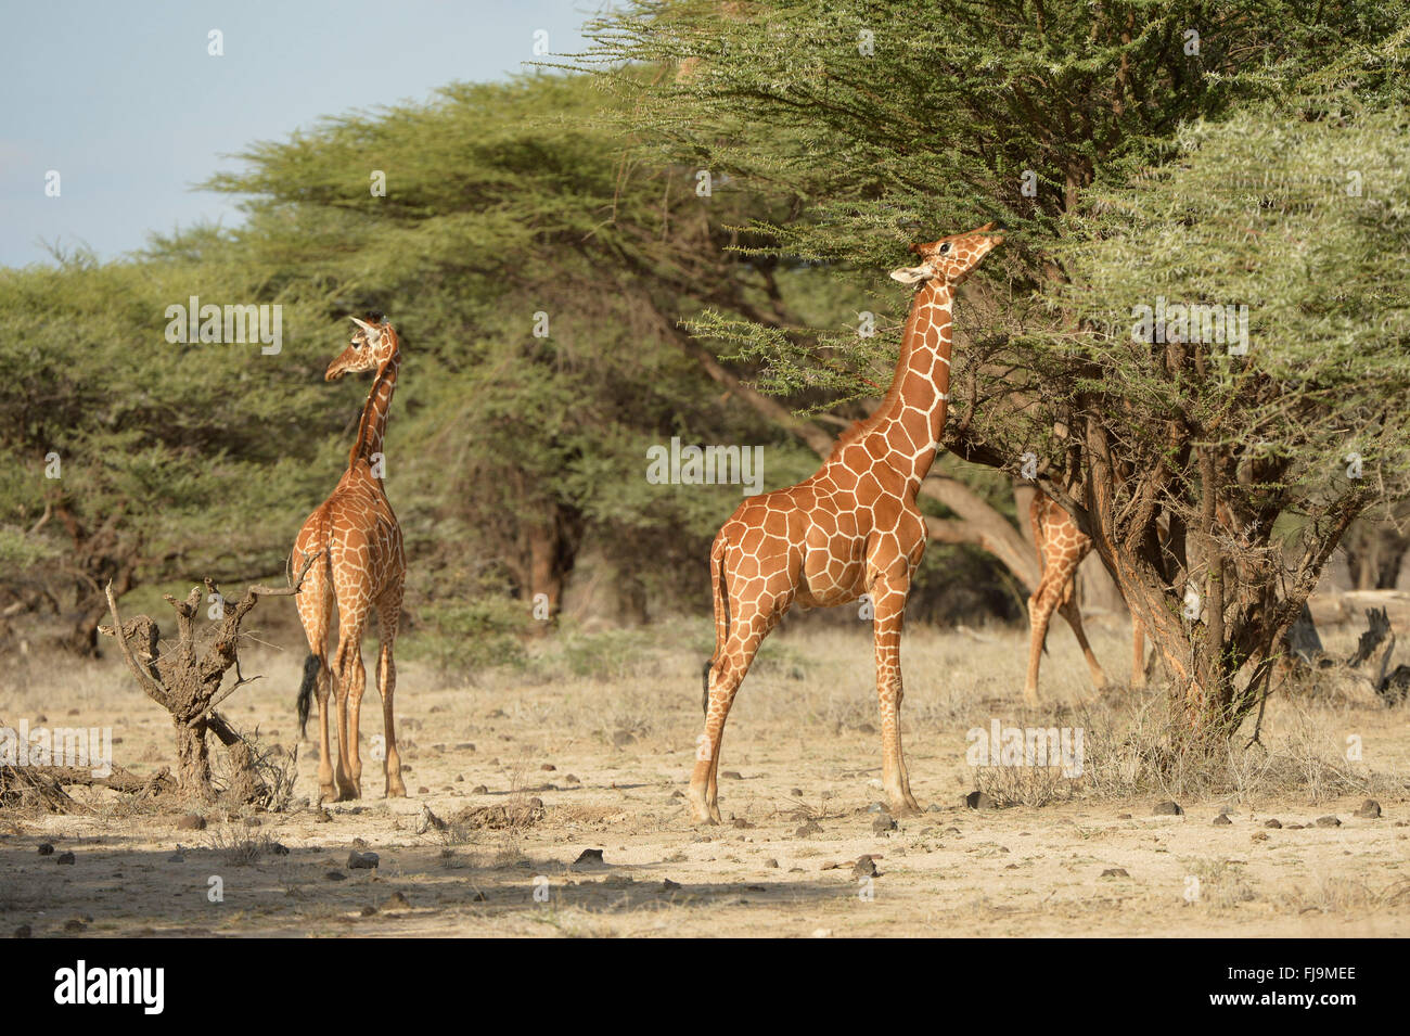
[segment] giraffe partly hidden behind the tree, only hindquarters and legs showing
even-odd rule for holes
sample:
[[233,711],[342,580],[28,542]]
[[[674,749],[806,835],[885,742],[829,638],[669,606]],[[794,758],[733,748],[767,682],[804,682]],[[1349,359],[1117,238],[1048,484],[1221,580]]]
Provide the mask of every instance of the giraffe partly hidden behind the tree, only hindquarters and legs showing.
[[[1028,599],[1029,644],[1028,678],[1024,681],[1024,701],[1038,705],[1038,667],[1042,661],[1043,643],[1048,639],[1048,624],[1053,612],[1059,612],[1072,631],[1091,670],[1091,682],[1097,691],[1107,686],[1107,674],[1101,671],[1097,655],[1091,653],[1087,634],[1081,629],[1081,609],[1077,606],[1077,567],[1091,553],[1091,538],[1077,527],[1072,514],[1059,506],[1048,493],[1038,491],[1029,505],[1034,544],[1038,547],[1038,561],[1042,576],[1038,589]],[[1131,686],[1145,686],[1145,626],[1132,613]]]

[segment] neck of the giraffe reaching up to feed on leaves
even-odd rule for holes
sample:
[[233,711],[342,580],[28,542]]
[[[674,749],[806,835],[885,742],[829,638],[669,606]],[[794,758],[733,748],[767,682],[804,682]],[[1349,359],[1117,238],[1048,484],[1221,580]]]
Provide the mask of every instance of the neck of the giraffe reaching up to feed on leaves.
[[885,437],[887,460],[916,485],[929,474],[939,448],[950,390],[950,310],[948,283],[929,280],[911,302],[901,335],[901,357],[891,388],[871,417]]

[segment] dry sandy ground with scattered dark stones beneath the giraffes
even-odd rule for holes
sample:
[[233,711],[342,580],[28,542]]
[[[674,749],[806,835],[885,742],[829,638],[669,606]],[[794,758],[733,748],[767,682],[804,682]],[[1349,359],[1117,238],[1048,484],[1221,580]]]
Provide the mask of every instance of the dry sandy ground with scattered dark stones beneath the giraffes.
[[[1094,626],[1117,675],[1128,629]],[[1324,636],[1334,650],[1351,643]],[[1238,787],[1191,796],[1132,784],[1122,795],[1110,746],[1151,722],[1156,689],[1117,686],[1091,709],[1069,708],[1086,667],[1055,630],[1043,671],[1053,705],[1025,710],[1022,630],[918,630],[904,646],[902,722],[926,812],[887,830],[874,812],[884,796],[867,630],[804,619],[770,640],[740,691],[721,764],[726,823],[701,829],[682,795],[708,637],[708,623],[564,636],[527,668],[470,685],[403,662],[406,799],[382,798],[369,686],[361,801],[320,809],[316,748],[303,743],[285,813],[207,809],[203,830],[179,829],[182,812],[107,791],[76,792],[86,809],[75,815],[0,810],[0,935],[1410,935],[1406,706],[1279,695],[1265,747],[1231,764]],[[300,664],[292,650],[248,651],[245,674],[265,678],[226,715],[266,743],[298,744]],[[169,720],[113,658],[18,660],[0,716],[111,726],[114,761],[140,774],[173,763]],[[1053,782],[1046,805],[967,808],[964,794],[993,774],[966,761],[966,732],[995,719],[1083,727],[1089,778]],[[1349,743],[1359,761],[1344,758]],[[1184,813],[1153,815],[1167,798]],[[1355,815],[1366,798],[1379,819]],[[478,806],[509,806],[517,822],[457,820]],[[1225,808],[1230,823],[1217,825]],[[1317,826],[1327,816],[1341,823]],[[580,863],[587,850],[602,863]],[[378,865],[350,868],[352,851]]]

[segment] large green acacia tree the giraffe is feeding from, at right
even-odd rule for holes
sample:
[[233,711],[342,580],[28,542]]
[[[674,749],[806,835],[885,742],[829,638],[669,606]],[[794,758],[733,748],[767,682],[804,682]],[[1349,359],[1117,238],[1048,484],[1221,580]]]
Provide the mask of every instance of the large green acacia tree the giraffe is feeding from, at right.
[[[760,249],[866,283],[891,314],[870,338],[697,320],[761,365],[767,392],[866,395],[894,362],[904,306],[876,289],[876,272],[900,265],[909,240],[988,220],[1012,231],[967,286],[945,444],[1015,474],[1025,457],[1039,462],[1038,481],[1149,616],[1187,729],[1234,729],[1347,523],[1396,492],[1402,428],[1386,393],[1400,388],[1400,338],[1380,317],[1404,293],[1387,258],[1403,251],[1389,202],[1400,179],[1386,161],[1400,134],[1345,101],[1268,111],[1231,123],[1232,135],[1200,120],[1337,87],[1394,110],[1406,99],[1404,4],[663,0],[589,34],[595,49],[580,63],[632,99],[643,147],[787,199],[788,220],[753,227],[768,240]],[[658,73],[643,85],[619,70],[633,62]],[[1190,124],[1198,137],[1180,135]],[[1228,189],[1275,168],[1300,185],[1290,147],[1344,187],[1347,168],[1328,149],[1338,144],[1369,148],[1365,164],[1354,154],[1373,204],[1332,204],[1325,182]],[[1314,259],[1349,286],[1314,288]],[[1129,307],[1153,306],[1153,288],[1248,304],[1255,338],[1296,319],[1313,375],[1289,376],[1282,338],[1276,350],[1258,340],[1237,364],[1189,337],[1135,350]],[[1356,330],[1368,324],[1380,330]],[[1355,451],[1358,438],[1375,478],[1338,485],[1347,465],[1332,467],[1335,450]],[[1280,544],[1294,524],[1301,553],[1289,571],[1270,537]],[[1184,619],[1191,579],[1198,600]]]

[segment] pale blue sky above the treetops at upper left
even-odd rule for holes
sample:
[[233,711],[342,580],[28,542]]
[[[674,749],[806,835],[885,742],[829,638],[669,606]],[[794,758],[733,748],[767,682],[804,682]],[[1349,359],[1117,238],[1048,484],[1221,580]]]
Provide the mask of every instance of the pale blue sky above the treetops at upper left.
[[[103,259],[151,231],[240,221],[195,190],[226,158],[321,116],[502,79],[584,47],[605,0],[0,0],[0,265],[44,244]],[[207,52],[223,34],[224,56]],[[45,195],[49,171],[59,196]]]

